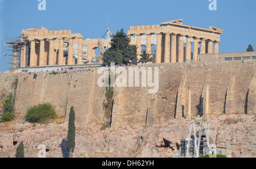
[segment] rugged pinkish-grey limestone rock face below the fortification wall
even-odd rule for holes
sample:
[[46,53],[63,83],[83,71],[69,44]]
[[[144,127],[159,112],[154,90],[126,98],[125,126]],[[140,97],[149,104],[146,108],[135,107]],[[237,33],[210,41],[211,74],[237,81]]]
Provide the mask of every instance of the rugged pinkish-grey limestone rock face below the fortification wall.
[[[196,117],[210,122],[210,141],[232,151],[232,157],[255,157],[255,115]],[[182,151],[181,140],[188,137],[191,120],[117,130],[101,129],[101,124],[76,122],[76,148],[73,157],[174,157]],[[25,157],[38,157],[39,145],[45,145],[46,157],[68,157],[65,150],[68,122],[61,124],[0,124],[0,157],[15,157],[16,147],[24,143]]]

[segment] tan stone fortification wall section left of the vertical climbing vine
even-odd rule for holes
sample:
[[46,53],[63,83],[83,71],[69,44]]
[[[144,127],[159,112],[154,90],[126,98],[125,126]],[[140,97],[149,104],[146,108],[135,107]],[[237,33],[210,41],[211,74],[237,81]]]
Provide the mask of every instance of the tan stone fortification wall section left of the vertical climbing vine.
[[[13,92],[11,83],[15,78],[19,80],[15,99],[16,120],[23,120],[26,109],[31,105],[49,102],[55,106],[57,114],[65,117],[65,120],[68,120],[69,109],[74,106],[76,121],[103,121],[102,103],[105,99],[105,88],[97,86],[96,69],[55,71],[55,73],[0,75],[0,96],[3,88]],[[36,78],[34,78],[35,74]]]

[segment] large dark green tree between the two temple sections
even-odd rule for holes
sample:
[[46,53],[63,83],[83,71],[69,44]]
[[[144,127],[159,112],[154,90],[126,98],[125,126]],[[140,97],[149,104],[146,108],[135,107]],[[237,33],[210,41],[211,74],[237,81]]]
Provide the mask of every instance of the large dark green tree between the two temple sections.
[[128,37],[123,28],[117,31],[112,36],[111,47],[106,50],[102,56],[102,61],[105,65],[110,65],[114,62],[115,65],[119,64],[137,64],[137,47],[130,45],[130,37]]

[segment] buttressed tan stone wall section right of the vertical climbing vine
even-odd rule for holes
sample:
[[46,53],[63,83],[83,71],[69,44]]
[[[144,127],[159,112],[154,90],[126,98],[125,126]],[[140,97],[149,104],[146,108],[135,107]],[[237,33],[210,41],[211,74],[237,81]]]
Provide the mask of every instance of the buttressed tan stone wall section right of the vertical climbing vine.
[[[253,112],[251,114],[255,115],[255,102],[250,99],[255,98],[255,62],[213,62],[209,65],[197,62],[155,66],[160,69],[159,92],[148,94],[147,88],[142,87],[119,89],[114,100],[112,129],[126,124],[138,128],[167,122],[174,117],[186,117],[188,86],[191,86],[191,115],[204,116],[207,82],[209,115],[225,112]],[[236,81],[233,82],[234,77]],[[233,87],[230,87],[232,83]]]

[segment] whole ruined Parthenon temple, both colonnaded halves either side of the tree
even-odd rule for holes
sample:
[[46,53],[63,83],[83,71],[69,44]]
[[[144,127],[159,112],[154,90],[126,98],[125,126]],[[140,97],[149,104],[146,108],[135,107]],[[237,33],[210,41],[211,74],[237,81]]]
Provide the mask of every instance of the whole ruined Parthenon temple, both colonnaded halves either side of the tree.
[[[186,26],[183,19],[160,25],[131,26],[127,35],[131,45],[137,45],[138,59],[142,51],[152,54],[152,63],[198,61],[198,54],[218,53],[222,29]],[[70,30],[50,31],[30,28],[22,31],[19,41],[6,41],[13,48],[13,69],[18,67],[84,65],[101,62],[102,53],[109,47],[107,39],[84,39],[81,33]],[[96,49],[100,55],[96,56]],[[154,48],[156,48],[154,50]]]

